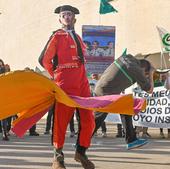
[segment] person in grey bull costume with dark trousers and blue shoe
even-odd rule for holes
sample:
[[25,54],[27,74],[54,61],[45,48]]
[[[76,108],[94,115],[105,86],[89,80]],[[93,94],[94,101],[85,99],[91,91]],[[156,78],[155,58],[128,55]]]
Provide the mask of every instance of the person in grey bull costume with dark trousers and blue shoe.
[[[138,60],[130,54],[122,55],[104,71],[96,84],[95,94],[97,96],[120,94],[136,82],[142,90],[151,93],[153,91],[153,72],[154,69],[147,60]],[[95,131],[106,117],[107,113],[96,113]],[[121,115],[121,121],[125,131],[127,149],[140,147],[148,142],[146,139],[137,139],[132,116]]]

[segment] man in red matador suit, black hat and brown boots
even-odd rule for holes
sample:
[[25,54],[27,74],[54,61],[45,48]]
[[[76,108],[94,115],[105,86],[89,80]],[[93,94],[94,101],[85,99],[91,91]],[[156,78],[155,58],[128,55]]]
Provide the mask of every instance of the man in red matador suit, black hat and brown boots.
[[[74,30],[75,15],[79,14],[79,10],[70,5],[63,5],[57,7],[55,13],[59,14],[62,28],[52,34],[39,57],[39,62],[64,92],[69,95],[89,97],[90,88],[84,65],[86,47]],[[75,108],[56,103],[52,137],[54,146],[53,169],[66,168],[63,146],[67,126],[74,111]],[[95,127],[94,113],[80,108],[79,115],[80,130],[74,159],[81,163],[84,169],[94,169],[94,164],[86,155]]]

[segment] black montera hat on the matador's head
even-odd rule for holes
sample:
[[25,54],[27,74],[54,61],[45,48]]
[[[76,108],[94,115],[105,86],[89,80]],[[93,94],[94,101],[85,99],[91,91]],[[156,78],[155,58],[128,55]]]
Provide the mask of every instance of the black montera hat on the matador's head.
[[60,12],[63,12],[63,11],[71,11],[73,12],[74,14],[79,14],[79,10],[73,6],[70,6],[70,5],[63,5],[63,6],[59,6],[55,9],[54,13],[57,13],[59,14]]

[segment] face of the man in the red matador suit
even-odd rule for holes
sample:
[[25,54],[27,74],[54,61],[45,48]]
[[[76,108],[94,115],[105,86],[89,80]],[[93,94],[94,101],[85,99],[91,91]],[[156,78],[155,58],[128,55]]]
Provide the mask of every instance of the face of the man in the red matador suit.
[[71,11],[60,12],[60,23],[64,26],[74,26],[75,14]]

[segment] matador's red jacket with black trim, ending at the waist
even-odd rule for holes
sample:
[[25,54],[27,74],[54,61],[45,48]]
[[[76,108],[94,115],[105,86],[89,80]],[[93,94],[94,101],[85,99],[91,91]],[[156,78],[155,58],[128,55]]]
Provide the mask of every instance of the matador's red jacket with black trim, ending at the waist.
[[[78,35],[77,35],[78,36]],[[85,53],[85,45],[78,36],[82,51]],[[39,62],[54,77],[54,65],[52,60],[57,57],[58,68],[78,67],[81,63],[77,54],[77,45],[69,32],[62,29],[57,30],[47,42]],[[53,69],[54,68],[54,69]]]

